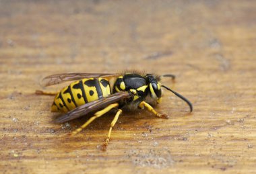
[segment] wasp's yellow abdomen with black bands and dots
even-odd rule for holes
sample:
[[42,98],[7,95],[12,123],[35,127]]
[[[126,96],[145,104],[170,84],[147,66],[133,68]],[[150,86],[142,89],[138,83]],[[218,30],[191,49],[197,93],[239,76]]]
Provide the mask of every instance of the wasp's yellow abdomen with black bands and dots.
[[75,81],[56,95],[51,112],[69,112],[79,105],[108,95],[110,95],[110,86],[108,80],[104,78]]

